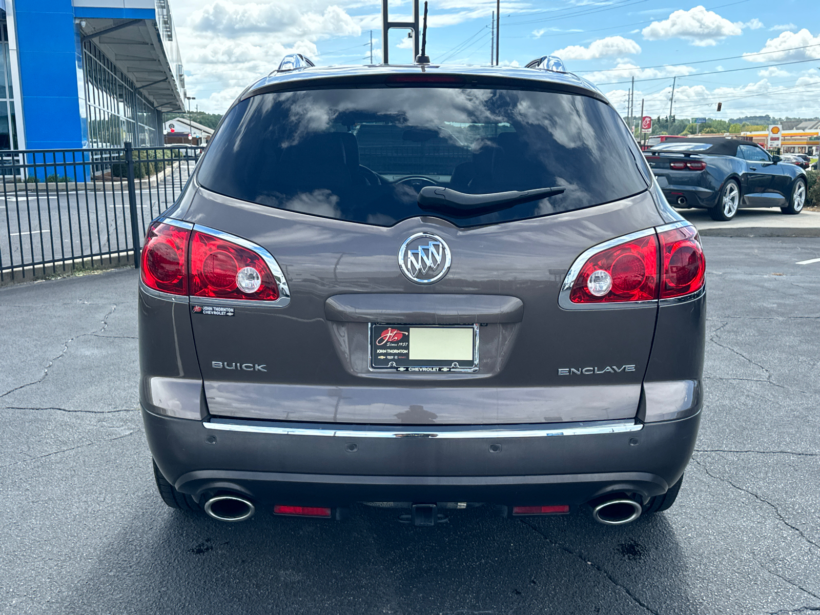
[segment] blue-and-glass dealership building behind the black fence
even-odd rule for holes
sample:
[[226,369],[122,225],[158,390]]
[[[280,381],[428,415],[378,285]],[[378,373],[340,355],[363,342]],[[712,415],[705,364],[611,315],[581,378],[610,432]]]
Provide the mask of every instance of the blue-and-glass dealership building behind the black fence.
[[184,108],[169,0],[0,0],[0,149],[161,145]]

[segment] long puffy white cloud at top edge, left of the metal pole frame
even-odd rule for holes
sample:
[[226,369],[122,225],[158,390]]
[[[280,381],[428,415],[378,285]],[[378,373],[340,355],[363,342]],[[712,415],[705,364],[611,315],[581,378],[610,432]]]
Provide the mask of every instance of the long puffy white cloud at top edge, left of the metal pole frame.
[[207,4],[189,17],[187,25],[209,35],[234,38],[242,34],[285,36],[286,39],[321,39],[330,35],[358,36],[362,29],[343,8],[336,5],[324,11],[302,11],[293,2],[237,5],[227,0]]

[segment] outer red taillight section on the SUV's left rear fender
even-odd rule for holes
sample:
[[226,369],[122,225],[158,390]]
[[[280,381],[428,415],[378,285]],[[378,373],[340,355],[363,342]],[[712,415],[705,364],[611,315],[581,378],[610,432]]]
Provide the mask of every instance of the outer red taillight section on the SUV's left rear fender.
[[154,222],[148,227],[139,268],[139,275],[148,288],[188,294],[185,256],[190,232],[164,222]]

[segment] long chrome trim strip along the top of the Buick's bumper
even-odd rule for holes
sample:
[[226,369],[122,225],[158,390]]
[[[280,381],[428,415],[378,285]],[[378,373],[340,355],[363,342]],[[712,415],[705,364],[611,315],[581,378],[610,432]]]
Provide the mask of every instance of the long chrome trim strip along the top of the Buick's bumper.
[[284,427],[266,425],[248,425],[246,421],[229,421],[218,419],[219,422],[203,421],[205,429],[221,431],[244,431],[256,434],[274,435],[325,435],[337,438],[544,438],[553,435],[594,435],[594,434],[621,434],[629,431],[640,431],[643,423],[634,419],[628,421],[608,421],[606,424],[579,425],[559,427],[552,426],[546,429],[481,429],[481,430],[336,430],[327,427]]

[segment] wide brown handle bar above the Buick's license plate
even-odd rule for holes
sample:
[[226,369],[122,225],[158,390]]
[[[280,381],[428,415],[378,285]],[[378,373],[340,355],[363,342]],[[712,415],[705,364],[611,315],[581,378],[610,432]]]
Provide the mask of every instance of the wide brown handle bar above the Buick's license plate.
[[337,294],[325,302],[325,317],[342,322],[471,325],[521,322],[524,303],[500,294]]

